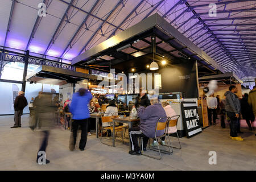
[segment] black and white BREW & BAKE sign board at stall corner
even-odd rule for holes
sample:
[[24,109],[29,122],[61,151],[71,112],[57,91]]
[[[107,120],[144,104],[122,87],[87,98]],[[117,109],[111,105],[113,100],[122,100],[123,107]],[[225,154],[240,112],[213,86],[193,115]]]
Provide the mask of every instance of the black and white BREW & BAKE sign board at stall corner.
[[181,112],[187,138],[191,138],[194,135],[201,133],[202,129],[196,102],[181,102]]

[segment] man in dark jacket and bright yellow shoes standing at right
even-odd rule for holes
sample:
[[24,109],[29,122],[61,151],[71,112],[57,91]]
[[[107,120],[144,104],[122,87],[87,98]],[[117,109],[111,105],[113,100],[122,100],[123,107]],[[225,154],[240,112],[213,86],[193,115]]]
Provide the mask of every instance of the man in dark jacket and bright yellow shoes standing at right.
[[237,87],[235,85],[229,86],[229,91],[224,94],[226,96],[225,110],[230,119],[230,138],[243,141],[243,139],[237,135],[241,105],[240,100],[235,93],[237,93]]

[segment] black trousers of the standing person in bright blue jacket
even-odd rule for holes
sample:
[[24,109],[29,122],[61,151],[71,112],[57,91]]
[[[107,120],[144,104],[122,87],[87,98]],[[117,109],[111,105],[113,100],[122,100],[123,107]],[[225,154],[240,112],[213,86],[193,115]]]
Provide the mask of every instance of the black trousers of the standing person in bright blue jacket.
[[79,148],[81,150],[84,150],[87,142],[87,125],[88,125],[88,119],[73,119],[72,122],[72,132],[73,132],[73,145],[76,146],[76,138],[77,138],[77,130],[79,126],[81,127],[82,133],[81,133],[81,139],[79,142]]

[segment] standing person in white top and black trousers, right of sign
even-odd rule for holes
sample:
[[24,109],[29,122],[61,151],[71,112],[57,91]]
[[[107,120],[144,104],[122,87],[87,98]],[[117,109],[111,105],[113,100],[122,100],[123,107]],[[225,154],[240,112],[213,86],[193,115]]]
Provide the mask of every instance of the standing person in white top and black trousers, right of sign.
[[210,125],[212,125],[212,115],[213,115],[213,125],[216,125],[216,109],[218,106],[217,98],[212,94],[210,97],[207,97],[207,107],[208,107],[208,119]]

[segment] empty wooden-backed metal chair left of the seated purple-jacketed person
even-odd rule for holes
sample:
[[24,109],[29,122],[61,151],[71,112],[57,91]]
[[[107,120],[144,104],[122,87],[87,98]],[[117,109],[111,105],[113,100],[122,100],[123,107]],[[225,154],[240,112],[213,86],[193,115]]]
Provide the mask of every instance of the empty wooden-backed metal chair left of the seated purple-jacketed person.
[[112,113],[105,113],[105,114],[109,114],[109,116],[104,116],[104,114],[101,114],[101,143],[106,144],[108,146],[112,146],[112,145],[109,145],[107,143],[102,142],[102,133],[103,133],[103,130],[111,130],[112,131],[112,138],[113,138],[113,127],[115,127],[115,131],[116,132],[121,132],[122,142],[123,142],[123,129],[122,129],[122,127],[116,127],[116,126],[104,127],[103,126],[103,123],[109,123],[109,122],[113,123],[113,119],[112,119],[113,115],[112,115]]

